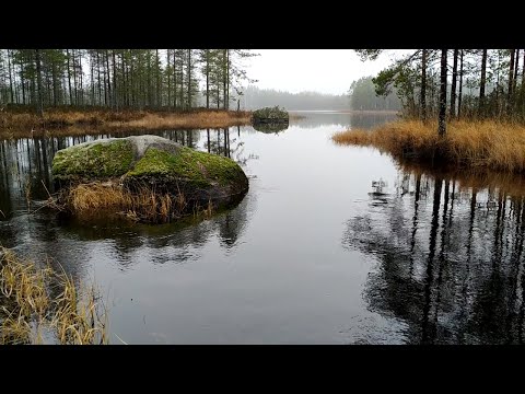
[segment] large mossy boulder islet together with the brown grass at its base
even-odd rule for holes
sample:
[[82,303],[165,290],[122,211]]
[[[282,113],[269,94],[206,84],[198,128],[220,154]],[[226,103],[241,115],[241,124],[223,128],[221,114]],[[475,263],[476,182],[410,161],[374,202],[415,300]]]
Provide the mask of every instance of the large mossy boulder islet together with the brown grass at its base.
[[167,222],[240,201],[248,178],[233,160],[158,136],[80,143],[52,160],[57,207],[75,217]]

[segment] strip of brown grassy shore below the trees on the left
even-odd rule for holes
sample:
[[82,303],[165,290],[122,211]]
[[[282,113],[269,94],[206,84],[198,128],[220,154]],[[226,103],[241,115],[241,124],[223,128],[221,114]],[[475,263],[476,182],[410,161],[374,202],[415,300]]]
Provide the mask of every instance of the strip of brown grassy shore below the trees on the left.
[[[250,123],[250,112],[219,109],[110,111],[52,108],[38,117],[30,112],[1,112],[0,139],[74,136],[121,130],[225,128]],[[32,131],[33,130],[33,131]]]

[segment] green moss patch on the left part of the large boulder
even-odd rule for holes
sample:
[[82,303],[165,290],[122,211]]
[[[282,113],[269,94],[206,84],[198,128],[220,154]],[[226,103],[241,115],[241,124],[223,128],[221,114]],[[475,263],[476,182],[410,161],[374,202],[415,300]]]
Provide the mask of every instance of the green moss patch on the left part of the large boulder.
[[90,143],[58,151],[52,160],[56,178],[105,178],[120,176],[133,162],[133,146],[128,140]]

